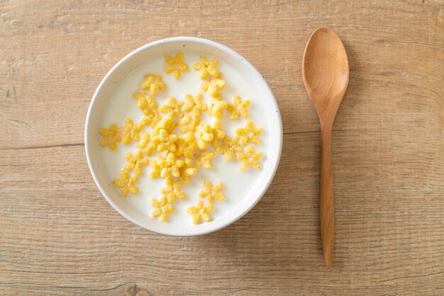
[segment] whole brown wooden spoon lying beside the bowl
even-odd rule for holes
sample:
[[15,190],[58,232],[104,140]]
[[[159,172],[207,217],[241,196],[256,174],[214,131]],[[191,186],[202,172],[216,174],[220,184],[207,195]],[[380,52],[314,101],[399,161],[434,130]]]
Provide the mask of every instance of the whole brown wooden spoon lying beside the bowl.
[[307,42],[302,63],[304,85],[321,123],[321,237],[323,256],[330,268],[335,233],[331,130],[348,86],[348,59],[338,35],[329,28],[317,28]]

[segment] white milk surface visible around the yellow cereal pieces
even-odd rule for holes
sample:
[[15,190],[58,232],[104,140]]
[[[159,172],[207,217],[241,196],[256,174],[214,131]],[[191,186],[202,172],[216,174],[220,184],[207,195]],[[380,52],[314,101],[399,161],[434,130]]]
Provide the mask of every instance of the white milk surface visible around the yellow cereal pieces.
[[[171,55],[172,54],[174,53],[171,53]],[[211,59],[212,57],[208,58]],[[210,98],[208,93],[199,89],[199,85],[203,83],[199,77],[199,72],[192,68],[194,62],[198,61],[199,55],[185,51],[184,62],[189,65],[189,72],[182,72],[182,76],[178,80],[174,79],[172,74],[165,74],[165,72],[163,72],[165,57],[158,57],[135,69],[131,74],[126,76],[126,79],[123,79],[123,81],[118,84],[104,114],[104,118],[101,121],[101,126],[109,127],[109,125],[113,123],[118,126],[123,126],[126,118],[132,118],[136,123],[138,119],[143,116],[142,110],[137,108],[137,101],[133,98],[133,93],[135,91],[142,91],[140,85],[143,82],[144,74],[159,74],[162,76],[165,84],[167,84],[167,89],[159,91],[155,96],[158,105],[165,103],[170,96],[174,96],[177,100],[183,100],[185,93],[190,93],[194,96],[194,94],[200,92],[204,95],[204,101],[208,101]],[[254,86],[249,85],[233,67],[222,60],[219,62],[218,70],[223,73],[223,79],[227,82],[226,89],[221,91],[223,99],[231,102],[235,94],[240,95],[243,100],[246,98],[250,99],[251,104],[250,108],[248,108],[250,113],[249,119],[252,120],[255,125],[263,128],[262,135],[260,136],[262,142],[259,145],[254,145],[254,147],[257,151],[264,153],[264,157],[261,159],[261,164],[264,166],[265,161],[267,161],[265,152],[268,150],[268,140],[270,138],[270,129],[266,124],[267,120],[265,119],[266,111],[264,106],[262,106],[260,101],[257,101]],[[203,112],[201,120],[206,123],[211,123],[213,118],[209,117],[206,112]],[[233,136],[235,128],[243,126],[245,119],[238,118],[232,121],[229,119],[228,111],[226,111],[222,124],[226,134]],[[145,127],[145,130],[151,132],[151,129],[148,127]],[[108,147],[102,149],[102,156],[110,181],[113,181],[118,176],[119,171],[126,163],[126,152],[134,152],[135,149],[134,143],[128,146],[118,143],[118,149],[115,152],[112,152]],[[156,152],[153,155],[158,156],[160,154]],[[154,156],[150,156],[150,159],[154,159]],[[137,195],[128,195],[128,197],[125,198],[128,204],[143,213],[143,215],[146,215],[147,219],[152,219],[150,217],[150,210],[152,210],[150,198],[160,198],[160,188],[165,186],[165,181],[162,178],[150,178],[150,171],[150,166],[145,166],[143,176],[139,178],[136,184],[139,188],[139,193]],[[254,186],[259,174],[260,170],[252,168],[248,171],[240,171],[240,162],[235,159],[235,156],[228,162],[224,159],[223,154],[216,153],[216,157],[213,159],[213,169],[198,169],[192,181],[183,187],[186,198],[184,200],[177,200],[176,203],[174,203],[176,211],[169,215],[167,223],[192,223],[192,218],[187,214],[186,208],[190,205],[195,205],[198,200],[203,200],[199,198],[198,193],[202,188],[202,182],[206,180],[211,183],[221,181],[224,184],[222,192],[223,195],[225,195],[225,200],[216,200],[214,202],[214,210],[211,212],[211,217],[213,217],[214,220],[218,219],[219,216],[230,211],[243,200],[250,188]],[[116,188],[116,190],[118,190],[118,188]]]

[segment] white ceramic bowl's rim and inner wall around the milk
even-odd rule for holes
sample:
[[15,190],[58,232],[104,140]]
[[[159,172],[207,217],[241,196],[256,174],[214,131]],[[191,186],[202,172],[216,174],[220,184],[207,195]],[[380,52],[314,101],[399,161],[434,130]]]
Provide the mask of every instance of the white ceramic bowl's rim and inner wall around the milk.
[[[192,225],[190,227],[176,227],[169,223],[162,223],[158,220],[150,219],[148,215],[143,215],[134,207],[126,203],[125,198],[118,195],[118,191],[111,183],[104,169],[104,160],[101,157],[101,149],[99,145],[99,127],[101,118],[103,117],[109,99],[117,84],[122,81],[129,73],[138,68],[140,64],[154,57],[165,55],[165,52],[181,52],[187,48],[187,51],[194,51],[199,55],[208,55],[216,57],[221,61],[230,64],[235,70],[248,81],[250,86],[255,89],[257,98],[254,103],[264,104],[267,114],[264,114],[268,125],[270,125],[270,143],[265,163],[262,164],[262,172],[257,181],[252,184],[252,188],[243,200],[233,207],[231,211],[225,215],[218,217],[209,223]],[[277,106],[276,99],[268,86],[265,79],[257,71],[255,67],[248,62],[245,57],[239,55],[231,48],[221,45],[211,40],[190,37],[167,38],[151,42],[148,45],[139,47],[126,57],[123,57],[109,72],[96,89],[92,97],[91,104],[87,114],[87,122],[85,125],[85,148],[87,152],[87,160],[91,174],[96,182],[100,192],[113,208],[121,213],[131,222],[138,224],[152,232],[167,234],[173,236],[194,236],[208,234],[218,229],[228,226],[240,217],[243,217],[249,210],[265,194],[268,186],[274,177],[274,173],[279,165],[279,159],[282,150],[282,120]]]

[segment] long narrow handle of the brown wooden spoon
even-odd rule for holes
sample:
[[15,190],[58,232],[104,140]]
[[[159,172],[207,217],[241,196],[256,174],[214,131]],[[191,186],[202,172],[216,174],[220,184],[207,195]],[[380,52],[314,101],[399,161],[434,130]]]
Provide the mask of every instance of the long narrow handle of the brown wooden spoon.
[[331,127],[322,130],[321,148],[321,237],[323,256],[330,268],[335,237],[333,212],[333,176],[331,173]]

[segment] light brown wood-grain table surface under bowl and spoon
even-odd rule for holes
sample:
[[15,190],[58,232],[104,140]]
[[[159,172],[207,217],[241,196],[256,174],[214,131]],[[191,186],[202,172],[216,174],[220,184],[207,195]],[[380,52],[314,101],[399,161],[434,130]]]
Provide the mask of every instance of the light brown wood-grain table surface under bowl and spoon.
[[[443,1],[236,2],[0,1],[1,295],[444,295]],[[338,33],[350,62],[333,127],[330,270],[321,137],[301,78],[319,26]],[[126,220],[84,153],[87,108],[106,72],[179,35],[250,59],[284,123],[267,194],[204,237]]]

